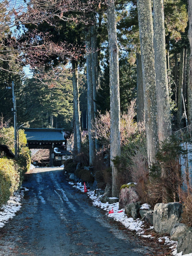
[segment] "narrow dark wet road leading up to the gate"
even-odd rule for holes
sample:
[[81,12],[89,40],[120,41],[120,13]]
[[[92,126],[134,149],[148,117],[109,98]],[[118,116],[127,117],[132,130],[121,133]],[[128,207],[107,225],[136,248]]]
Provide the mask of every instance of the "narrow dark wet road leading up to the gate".
[[35,168],[26,174],[29,191],[22,208],[0,229],[0,255],[145,255],[86,194],[70,186],[62,168]]

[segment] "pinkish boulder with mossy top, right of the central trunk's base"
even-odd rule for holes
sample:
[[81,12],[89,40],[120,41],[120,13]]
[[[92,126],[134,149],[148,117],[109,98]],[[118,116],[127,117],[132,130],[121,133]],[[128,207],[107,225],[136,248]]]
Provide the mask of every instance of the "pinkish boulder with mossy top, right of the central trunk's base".
[[139,202],[136,188],[133,186],[122,188],[119,194],[119,209],[125,208],[129,203]]

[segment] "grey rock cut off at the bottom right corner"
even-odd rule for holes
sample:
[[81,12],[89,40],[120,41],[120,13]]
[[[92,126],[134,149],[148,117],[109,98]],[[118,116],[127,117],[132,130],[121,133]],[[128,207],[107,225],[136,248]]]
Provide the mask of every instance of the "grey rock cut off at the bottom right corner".
[[178,238],[177,252],[183,254],[192,253],[192,227],[189,227],[183,236]]

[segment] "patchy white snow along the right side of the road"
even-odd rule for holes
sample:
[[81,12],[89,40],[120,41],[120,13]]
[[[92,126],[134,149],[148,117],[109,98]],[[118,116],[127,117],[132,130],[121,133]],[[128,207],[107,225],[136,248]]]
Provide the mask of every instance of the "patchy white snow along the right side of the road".
[[[69,184],[72,185],[73,187],[76,187],[80,191],[84,192],[84,185],[82,185],[81,182],[79,183],[69,182]],[[128,229],[135,230],[137,232],[137,235],[146,237],[146,238],[149,237],[153,239],[152,235],[143,235],[143,233],[145,232],[143,228],[144,221],[141,221],[139,218],[137,220],[134,220],[133,218],[128,218],[127,215],[125,215],[124,209],[119,210],[119,203],[113,203],[113,204],[109,204],[108,202],[101,203],[100,198],[102,197],[102,195],[98,197],[94,191],[91,191],[89,189],[87,194],[92,200],[93,205],[98,206],[104,209],[105,211],[107,211],[106,215],[110,216],[116,221],[120,221]],[[109,213],[109,211],[111,211],[112,208],[113,208],[113,213]],[[141,209],[150,209],[150,205],[147,203],[144,203],[141,206]],[[149,229],[153,229],[153,226],[150,227]],[[158,240],[159,242],[165,241],[164,245],[170,245],[170,249],[172,249],[172,253],[174,256],[192,256],[192,253],[184,254],[184,255],[182,255],[182,252],[177,253],[177,249],[176,249],[177,242],[171,241],[168,236],[160,237]]]

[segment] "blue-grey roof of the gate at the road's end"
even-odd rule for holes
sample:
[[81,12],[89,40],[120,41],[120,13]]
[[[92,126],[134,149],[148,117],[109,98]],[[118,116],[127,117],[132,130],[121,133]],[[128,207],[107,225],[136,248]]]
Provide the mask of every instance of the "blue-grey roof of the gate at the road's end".
[[62,129],[55,128],[26,128],[27,141],[65,141]]

